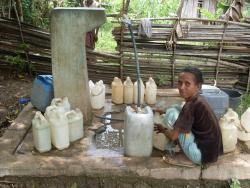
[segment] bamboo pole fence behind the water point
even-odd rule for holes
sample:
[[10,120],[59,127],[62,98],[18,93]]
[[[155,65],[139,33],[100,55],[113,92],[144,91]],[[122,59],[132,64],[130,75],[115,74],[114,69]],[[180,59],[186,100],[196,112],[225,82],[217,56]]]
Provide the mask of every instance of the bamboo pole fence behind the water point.
[[[176,87],[177,76],[186,66],[199,67],[205,83],[217,80],[219,87],[246,91],[250,84],[250,24],[205,19],[152,19],[152,37],[138,35],[140,20],[133,20],[141,76],[152,76],[159,85]],[[202,24],[202,22],[206,23]],[[23,40],[20,35],[20,28]],[[89,78],[110,84],[114,76],[136,78],[131,36],[121,24],[113,30],[117,53],[88,51],[97,63],[88,64]],[[28,48],[22,49],[23,43]],[[6,56],[19,55],[37,74],[51,74],[50,34],[14,20],[0,19],[0,69],[15,70]]]

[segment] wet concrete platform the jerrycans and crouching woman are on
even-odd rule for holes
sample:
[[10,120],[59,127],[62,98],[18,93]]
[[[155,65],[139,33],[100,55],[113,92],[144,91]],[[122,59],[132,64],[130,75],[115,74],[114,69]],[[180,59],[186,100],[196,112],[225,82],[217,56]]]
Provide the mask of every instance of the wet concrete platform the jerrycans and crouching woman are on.
[[[174,100],[168,100],[170,103]],[[109,103],[109,102],[108,102]],[[162,105],[162,104],[160,104]],[[114,110],[107,104],[103,111]],[[121,108],[118,106],[117,108]],[[250,187],[250,155],[223,155],[205,169],[166,164],[160,152],[148,158],[124,157],[123,150],[98,149],[93,132],[85,127],[83,139],[68,149],[40,154],[34,149],[32,131],[27,134],[20,151],[12,152],[31,124],[35,109],[28,104],[18,118],[0,137],[0,187],[227,187],[228,180],[237,178],[241,187]],[[102,112],[95,112],[102,113]],[[175,161],[191,164],[184,155]]]

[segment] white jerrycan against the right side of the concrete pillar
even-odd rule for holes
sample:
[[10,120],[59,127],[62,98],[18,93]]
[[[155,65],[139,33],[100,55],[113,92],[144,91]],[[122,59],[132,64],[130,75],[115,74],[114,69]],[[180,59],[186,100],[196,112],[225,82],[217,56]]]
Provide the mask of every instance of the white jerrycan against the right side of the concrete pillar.
[[90,102],[93,109],[99,110],[105,105],[105,85],[103,81],[98,81],[91,89]]

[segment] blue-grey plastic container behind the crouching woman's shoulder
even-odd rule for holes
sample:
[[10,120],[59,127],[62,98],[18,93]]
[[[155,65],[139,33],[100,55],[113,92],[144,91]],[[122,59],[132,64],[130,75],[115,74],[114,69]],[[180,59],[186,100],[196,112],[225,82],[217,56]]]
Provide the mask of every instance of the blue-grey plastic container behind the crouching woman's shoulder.
[[226,113],[229,107],[229,96],[224,91],[203,91],[201,96],[208,102],[218,119]]

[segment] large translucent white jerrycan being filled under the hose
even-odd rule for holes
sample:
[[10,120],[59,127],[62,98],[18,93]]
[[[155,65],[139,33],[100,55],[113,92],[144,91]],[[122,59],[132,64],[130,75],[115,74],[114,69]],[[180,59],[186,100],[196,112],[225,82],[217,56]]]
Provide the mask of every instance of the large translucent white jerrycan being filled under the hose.
[[146,106],[135,112],[130,106],[125,110],[124,151],[126,156],[149,157],[153,148],[153,112]]

